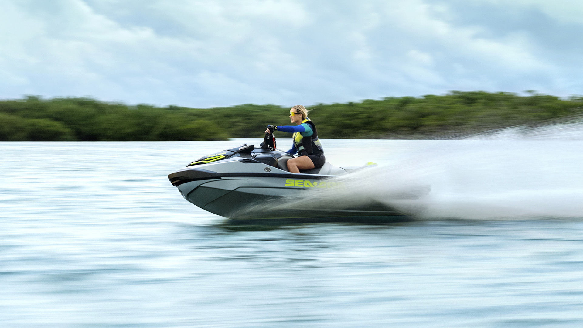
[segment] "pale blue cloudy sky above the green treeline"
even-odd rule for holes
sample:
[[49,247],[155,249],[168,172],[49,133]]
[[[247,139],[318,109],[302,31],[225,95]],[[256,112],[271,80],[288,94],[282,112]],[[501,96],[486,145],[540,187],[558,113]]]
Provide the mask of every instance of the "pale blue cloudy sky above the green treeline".
[[580,0],[3,0],[0,99],[582,95]]

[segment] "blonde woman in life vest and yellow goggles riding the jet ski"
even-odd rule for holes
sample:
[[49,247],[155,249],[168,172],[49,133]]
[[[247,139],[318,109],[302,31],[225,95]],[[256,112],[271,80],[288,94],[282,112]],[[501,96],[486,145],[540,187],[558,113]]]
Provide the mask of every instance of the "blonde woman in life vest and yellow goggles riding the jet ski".
[[300,170],[321,168],[326,162],[324,149],[318,139],[318,131],[314,122],[308,118],[308,110],[304,106],[296,105],[290,109],[291,123],[296,125],[269,125],[265,133],[273,130],[293,132],[293,146],[288,153],[298,157],[287,160],[287,170],[300,173]]

